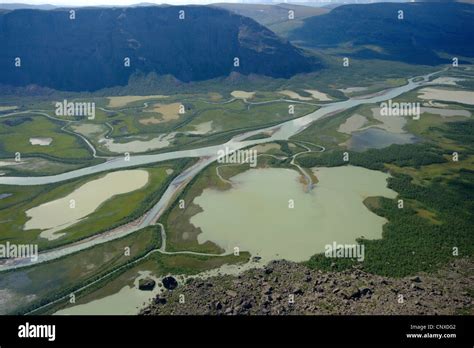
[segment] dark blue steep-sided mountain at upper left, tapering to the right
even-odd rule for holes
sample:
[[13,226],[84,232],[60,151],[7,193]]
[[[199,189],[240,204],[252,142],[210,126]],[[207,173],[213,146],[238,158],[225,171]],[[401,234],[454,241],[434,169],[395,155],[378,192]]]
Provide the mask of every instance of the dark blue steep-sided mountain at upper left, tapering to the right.
[[203,6],[81,8],[74,20],[64,9],[7,12],[0,47],[1,84],[71,91],[125,85],[140,72],[194,81],[232,71],[287,78],[318,67],[252,19]]

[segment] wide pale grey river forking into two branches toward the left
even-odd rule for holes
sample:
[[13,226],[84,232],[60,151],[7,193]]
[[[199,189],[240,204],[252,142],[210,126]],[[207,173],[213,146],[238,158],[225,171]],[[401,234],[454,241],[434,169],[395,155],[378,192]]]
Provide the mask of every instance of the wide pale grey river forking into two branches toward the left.
[[[271,126],[264,129],[258,129],[253,131],[248,131],[242,134],[239,134],[233,137],[225,144],[203,147],[192,150],[182,150],[182,151],[173,151],[167,153],[160,153],[154,155],[134,155],[130,157],[129,161],[125,161],[124,157],[109,159],[106,162],[103,162],[98,165],[94,165],[87,168],[81,168],[73,170],[70,172],[51,175],[51,176],[41,176],[41,177],[0,177],[0,184],[5,185],[20,185],[20,186],[29,186],[29,185],[45,185],[51,183],[62,182],[65,180],[80,178],[85,175],[100,173],[104,171],[135,167],[150,163],[162,162],[171,159],[179,158],[189,158],[189,157],[198,157],[199,161],[193,166],[189,167],[182,173],[180,173],[168,186],[165,193],[162,195],[158,203],[148,211],[144,216],[137,219],[136,221],[116,228],[109,230],[102,234],[94,235],[92,237],[77,241],[75,243],[68,244],[57,249],[48,250],[43,253],[40,253],[38,256],[38,261],[35,264],[50,261],[59,257],[69,255],[71,253],[90,248],[94,245],[102,244],[111,240],[115,240],[130,233],[133,233],[141,228],[144,228],[149,225],[153,225],[163,214],[165,209],[169,204],[172,203],[173,199],[176,197],[176,194],[184,188],[191,179],[197,175],[201,170],[206,166],[217,160],[218,150],[225,149],[226,147],[235,151],[242,149],[248,146],[258,145],[267,142],[273,142],[275,140],[288,140],[291,136],[300,133],[307,127],[309,127],[313,122],[323,118],[336,115],[344,110],[359,106],[362,104],[372,104],[380,103],[384,100],[393,99],[403,93],[411,91],[415,88],[422,87],[429,83],[429,79],[432,75],[437,74],[438,72],[430,73],[421,77],[414,77],[408,80],[406,85],[388,89],[382,92],[379,92],[374,95],[369,95],[365,97],[351,98],[345,101],[334,102],[322,106],[320,109],[297,119],[292,119],[281,124]],[[415,82],[416,80],[416,82]],[[271,137],[264,139],[256,140],[244,140],[253,135],[269,132],[272,134]],[[165,237],[165,236],[164,236]],[[165,251],[165,247],[163,250]],[[10,259],[4,261],[0,264],[0,271],[25,267],[31,264],[30,259]]]

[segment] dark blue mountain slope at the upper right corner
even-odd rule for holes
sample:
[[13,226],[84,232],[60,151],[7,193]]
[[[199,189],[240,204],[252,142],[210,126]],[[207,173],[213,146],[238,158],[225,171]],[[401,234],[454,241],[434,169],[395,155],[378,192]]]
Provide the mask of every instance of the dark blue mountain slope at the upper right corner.
[[[403,11],[403,20],[397,18]],[[462,3],[345,5],[305,20],[290,40],[343,47],[359,58],[435,65],[437,52],[474,56],[474,6]]]

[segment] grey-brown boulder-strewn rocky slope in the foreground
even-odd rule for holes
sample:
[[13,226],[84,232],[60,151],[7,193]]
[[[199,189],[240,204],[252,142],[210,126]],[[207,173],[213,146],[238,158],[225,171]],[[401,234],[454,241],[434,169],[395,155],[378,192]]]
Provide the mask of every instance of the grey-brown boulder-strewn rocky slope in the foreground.
[[140,314],[474,314],[473,289],[469,260],[405,278],[358,268],[323,272],[275,261],[239,276],[189,280],[159,295]]

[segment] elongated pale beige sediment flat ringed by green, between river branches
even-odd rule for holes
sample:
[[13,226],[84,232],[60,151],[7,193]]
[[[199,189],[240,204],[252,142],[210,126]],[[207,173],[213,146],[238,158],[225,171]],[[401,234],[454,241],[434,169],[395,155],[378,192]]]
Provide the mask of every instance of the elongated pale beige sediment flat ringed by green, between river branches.
[[[65,197],[43,203],[26,211],[29,220],[24,230],[43,230],[42,238],[54,240],[63,234],[56,233],[86,218],[102,203],[115,195],[138,190],[148,182],[146,170],[123,170],[108,173],[78,187]],[[70,207],[70,201],[75,207]]]

